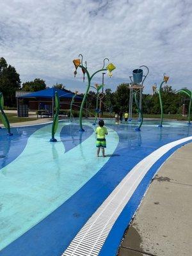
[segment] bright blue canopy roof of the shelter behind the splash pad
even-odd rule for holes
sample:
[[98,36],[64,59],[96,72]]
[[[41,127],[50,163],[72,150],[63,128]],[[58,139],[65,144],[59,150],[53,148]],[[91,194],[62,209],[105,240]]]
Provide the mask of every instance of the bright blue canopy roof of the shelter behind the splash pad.
[[[41,90],[38,92],[28,93],[26,95],[22,95],[19,98],[49,98],[51,99],[54,97],[55,92],[58,92],[60,98],[72,98],[74,96],[73,92],[67,90],[60,90],[58,88],[47,88],[45,90]],[[76,99],[82,99],[81,96],[76,96]]]

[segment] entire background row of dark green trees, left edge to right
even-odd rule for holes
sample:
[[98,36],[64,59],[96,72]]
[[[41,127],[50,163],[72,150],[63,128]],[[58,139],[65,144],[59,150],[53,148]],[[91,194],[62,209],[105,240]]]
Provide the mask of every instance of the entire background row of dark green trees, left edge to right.
[[[58,83],[53,86],[61,90],[65,88],[63,84]],[[44,90],[45,88],[45,81],[40,78],[35,78],[33,81],[26,81],[21,84],[19,74],[15,70],[15,67],[8,65],[3,57],[0,58],[0,92],[4,95],[5,106],[13,107],[16,105],[15,91],[23,90],[25,92],[36,92]],[[127,83],[118,85],[115,92],[107,88],[104,92],[104,99],[102,100],[102,110],[108,112],[129,111],[129,93],[129,84]],[[86,106],[84,107],[95,109],[96,98],[96,93],[90,91],[86,100]],[[172,86],[168,86],[167,84],[163,87],[162,100],[165,114],[180,113],[182,104],[189,104],[186,95],[176,93]],[[159,114],[161,111],[157,93],[154,95],[143,93],[142,108],[145,114]],[[134,111],[136,111],[136,104],[133,100],[133,112]]]

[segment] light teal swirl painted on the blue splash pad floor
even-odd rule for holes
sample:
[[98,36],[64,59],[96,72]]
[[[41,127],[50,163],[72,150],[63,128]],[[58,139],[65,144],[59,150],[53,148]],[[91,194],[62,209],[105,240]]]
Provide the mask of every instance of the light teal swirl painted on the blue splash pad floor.
[[[38,129],[29,137],[22,154],[1,169],[0,250],[74,195],[109,160],[93,157],[94,132],[65,153],[60,140],[62,127],[60,123],[57,143],[49,142],[51,125]],[[113,154],[118,134],[109,127],[108,132],[107,154]]]

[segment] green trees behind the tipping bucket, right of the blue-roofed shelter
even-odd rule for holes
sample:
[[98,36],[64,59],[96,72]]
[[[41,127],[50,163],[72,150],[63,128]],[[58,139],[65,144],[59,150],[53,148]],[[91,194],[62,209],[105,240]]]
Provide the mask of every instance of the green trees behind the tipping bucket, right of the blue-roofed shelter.
[[[116,91],[112,92],[111,89],[105,90],[103,100],[103,110],[113,112],[129,111],[129,84],[122,83],[117,86]],[[189,99],[182,93],[177,93],[173,90],[172,86],[166,84],[162,88],[161,97],[163,100],[164,114],[180,114],[182,111],[182,105],[189,105]],[[96,93],[90,92],[88,94],[88,106],[94,109],[96,106]],[[133,113],[136,113],[136,104],[133,99]],[[145,94],[142,96],[142,110],[144,114],[160,114],[161,109],[159,105],[159,95],[157,93]]]

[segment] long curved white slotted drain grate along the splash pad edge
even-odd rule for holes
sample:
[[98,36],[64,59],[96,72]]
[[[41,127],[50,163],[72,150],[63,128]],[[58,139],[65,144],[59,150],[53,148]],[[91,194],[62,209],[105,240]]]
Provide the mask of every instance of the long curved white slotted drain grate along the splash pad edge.
[[189,140],[192,140],[192,136],[168,143],[136,164],[85,223],[62,256],[99,255],[115,221],[148,170],[168,150]]

